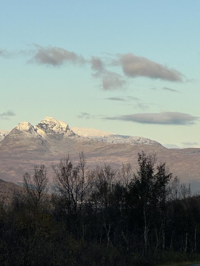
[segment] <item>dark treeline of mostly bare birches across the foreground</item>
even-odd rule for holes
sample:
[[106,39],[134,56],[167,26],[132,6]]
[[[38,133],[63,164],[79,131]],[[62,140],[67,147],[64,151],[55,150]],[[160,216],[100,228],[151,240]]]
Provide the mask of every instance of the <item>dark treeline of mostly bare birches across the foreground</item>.
[[[156,265],[200,253],[200,196],[156,153],[89,170],[84,153],[23,176],[0,199],[0,265]],[[170,259],[171,258],[171,259]]]

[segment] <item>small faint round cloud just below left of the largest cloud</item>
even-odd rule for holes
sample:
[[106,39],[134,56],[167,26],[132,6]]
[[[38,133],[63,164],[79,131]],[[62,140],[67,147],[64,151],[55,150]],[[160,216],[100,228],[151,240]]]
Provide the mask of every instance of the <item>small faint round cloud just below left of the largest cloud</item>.
[[122,75],[107,71],[106,74],[102,77],[102,89],[104,91],[114,91],[116,89],[121,89],[126,84],[125,79]]

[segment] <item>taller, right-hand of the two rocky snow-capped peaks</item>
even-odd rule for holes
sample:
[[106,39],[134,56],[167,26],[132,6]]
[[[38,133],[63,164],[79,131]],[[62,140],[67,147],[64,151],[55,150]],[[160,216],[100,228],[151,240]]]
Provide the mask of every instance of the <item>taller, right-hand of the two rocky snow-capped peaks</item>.
[[37,132],[44,136],[74,136],[74,132],[69,128],[69,125],[63,121],[58,121],[53,117],[44,118],[38,125],[35,126]]

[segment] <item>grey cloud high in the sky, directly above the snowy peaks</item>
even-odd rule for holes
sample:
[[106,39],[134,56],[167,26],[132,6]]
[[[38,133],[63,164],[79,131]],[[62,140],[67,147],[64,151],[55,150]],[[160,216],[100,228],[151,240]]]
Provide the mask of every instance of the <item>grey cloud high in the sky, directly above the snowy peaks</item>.
[[38,64],[46,64],[52,66],[60,66],[64,63],[85,63],[83,56],[77,53],[67,51],[60,47],[42,47],[35,45],[36,51],[29,63],[36,62]]

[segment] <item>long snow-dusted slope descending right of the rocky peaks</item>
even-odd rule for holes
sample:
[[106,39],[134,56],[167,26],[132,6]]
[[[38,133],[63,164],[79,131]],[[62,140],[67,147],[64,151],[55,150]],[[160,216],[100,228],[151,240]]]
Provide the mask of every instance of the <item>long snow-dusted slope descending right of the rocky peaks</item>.
[[130,144],[130,145],[138,145],[138,144],[161,145],[159,142],[150,140],[148,138],[123,136],[115,133],[102,131],[99,129],[72,127],[72,130],[77,135],[88,137],[89,139],[106,143],[115,143],[115,144],[118,143],[118,144]]

